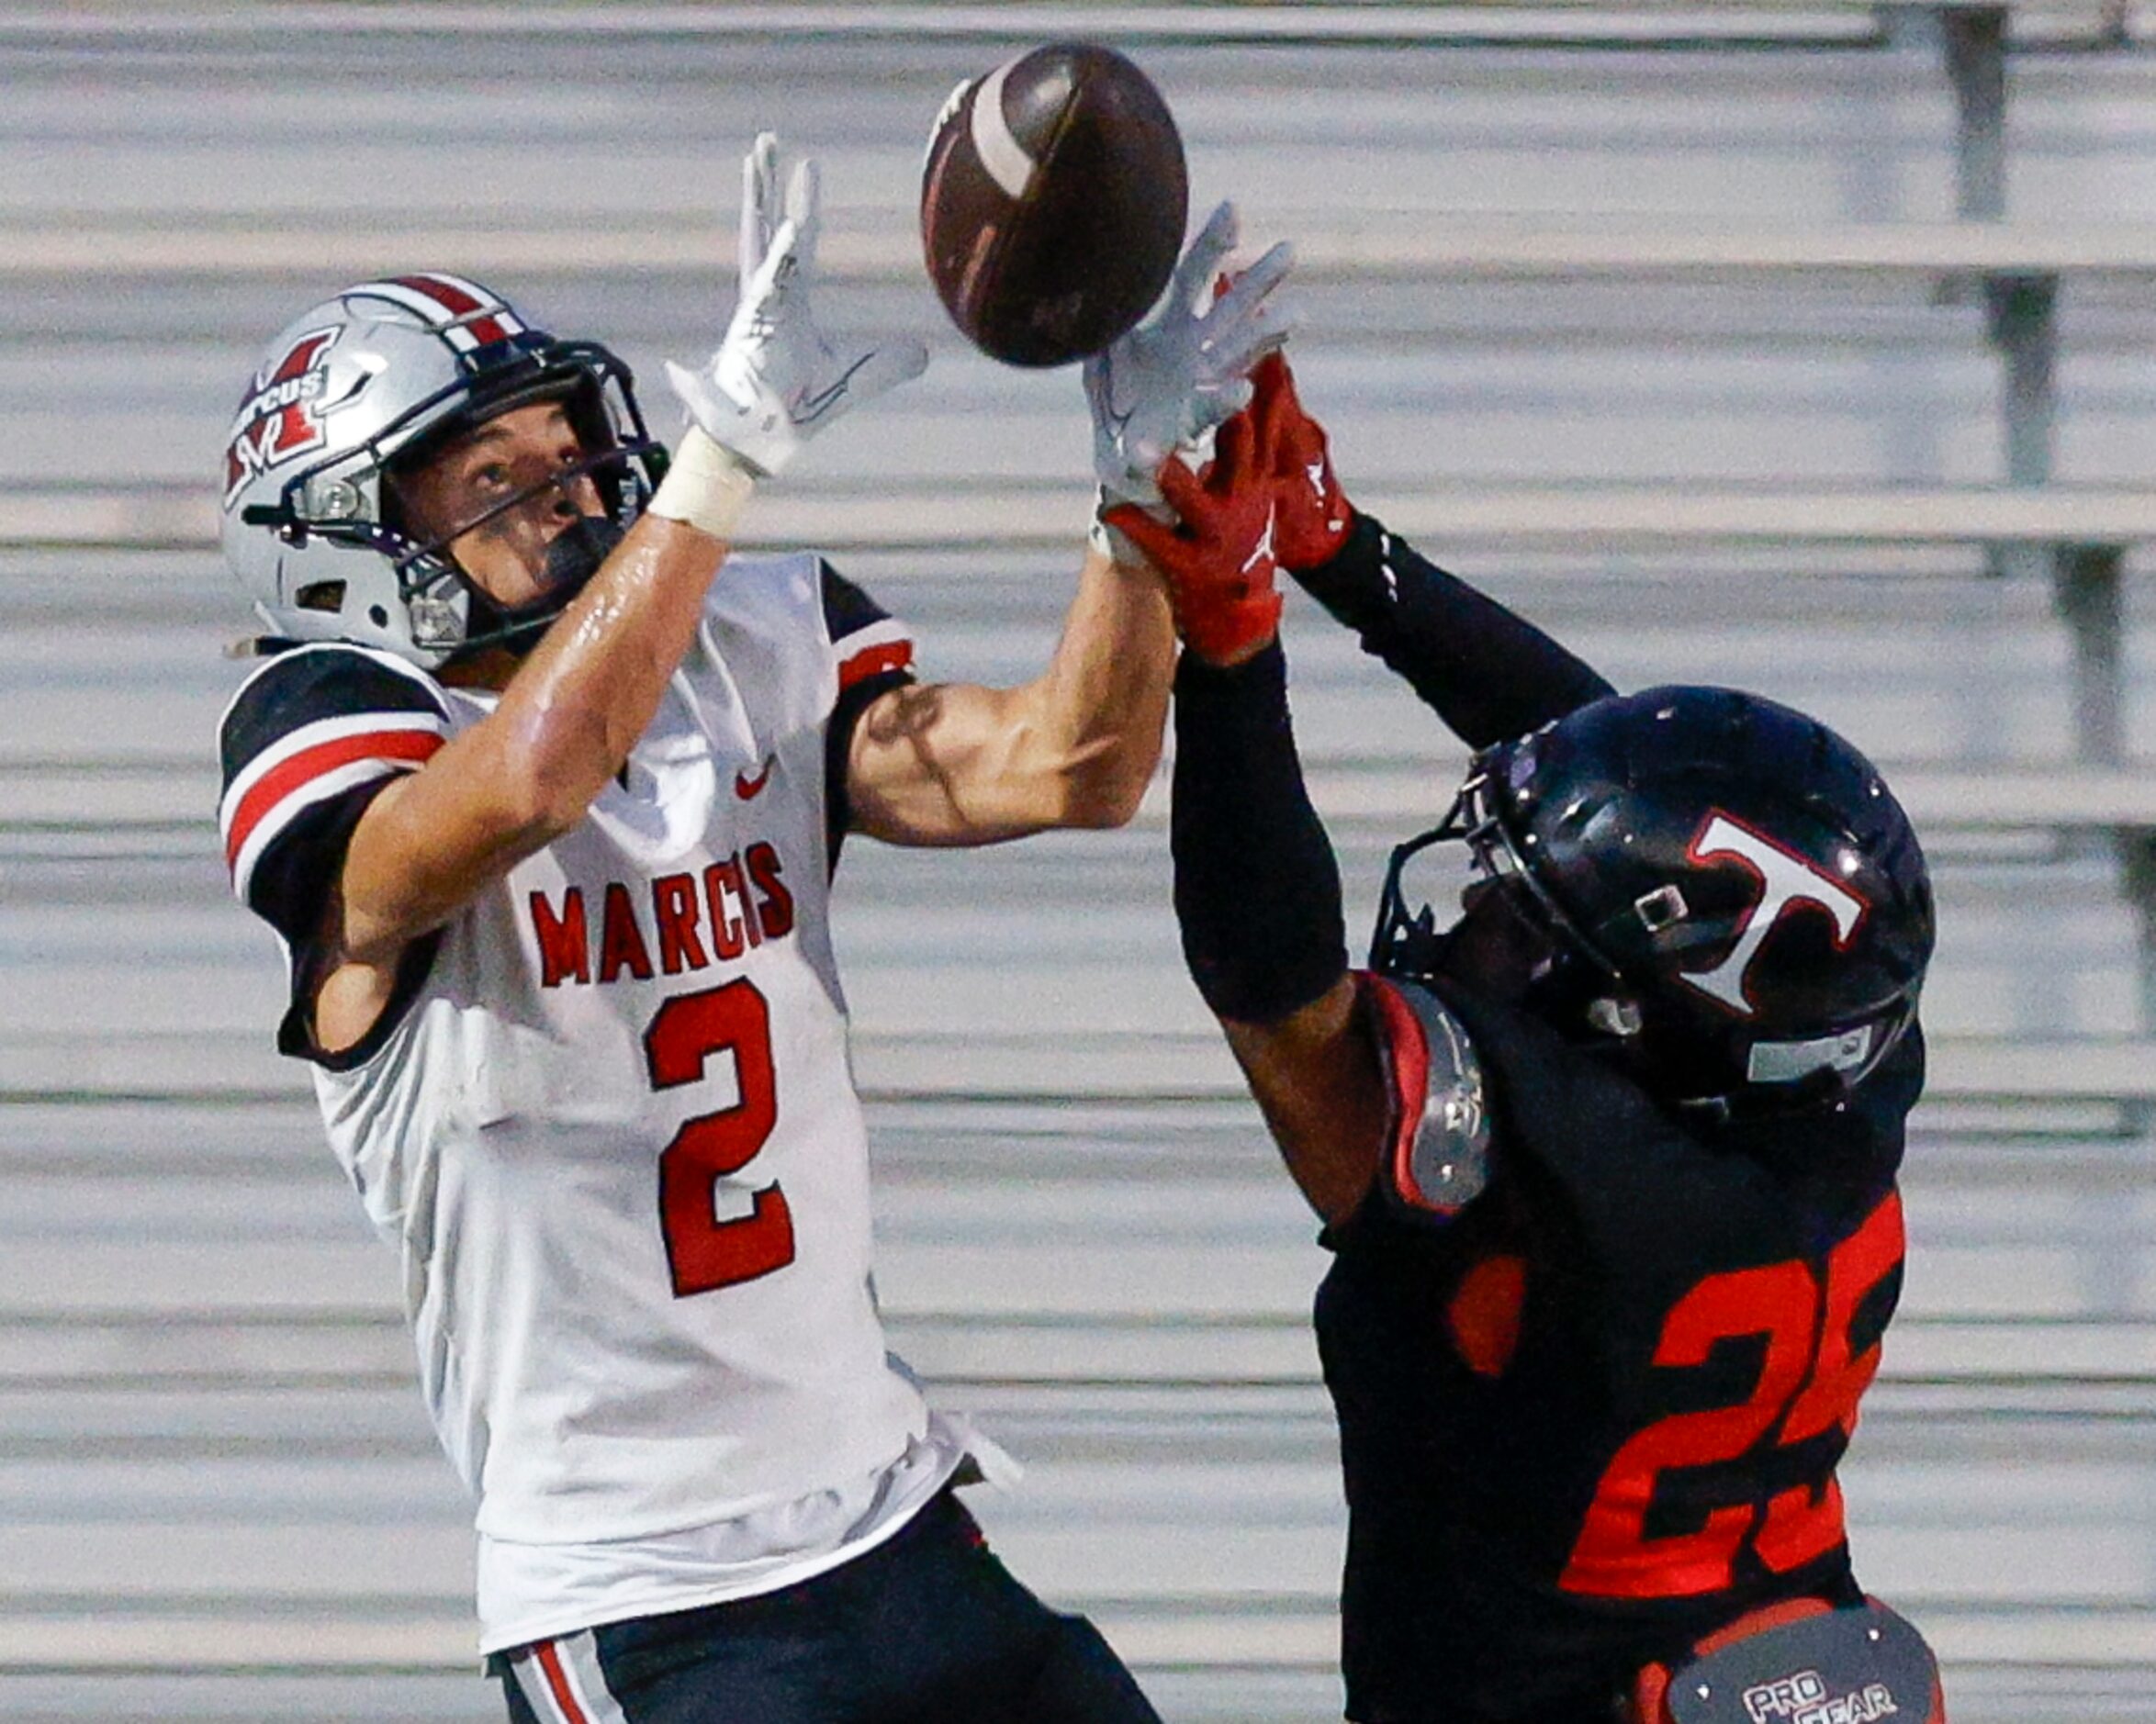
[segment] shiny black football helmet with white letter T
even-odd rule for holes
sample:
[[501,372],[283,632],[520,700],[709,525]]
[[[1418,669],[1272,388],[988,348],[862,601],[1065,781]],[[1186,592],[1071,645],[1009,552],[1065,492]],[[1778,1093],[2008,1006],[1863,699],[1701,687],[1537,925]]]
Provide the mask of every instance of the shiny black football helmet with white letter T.
[[1815,1106],[1917,1013],[1932,884],[1902,804],[1824,724],[1753,694],[1611,696],[1475,756],[1445,823],[1393,853],[1371,968],[1427,974],[1401,864],[1464,838],[1542,944],[1522,1002],[1606,1039],[1649,1090]]

